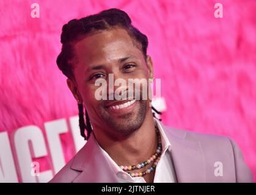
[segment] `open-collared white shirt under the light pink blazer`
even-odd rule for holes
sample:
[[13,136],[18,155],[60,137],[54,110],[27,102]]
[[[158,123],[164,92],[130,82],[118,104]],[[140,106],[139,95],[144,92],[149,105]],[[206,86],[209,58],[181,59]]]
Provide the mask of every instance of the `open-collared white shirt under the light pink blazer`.
[[[166,133],[164,133],[164,129],[161,125],[161,123],[158,121],[158,119],[155,119],[155,124],[158,126],[160,135],[161,135],[161,142],[163,147],[163,152],[161,155],[161,158],[158,162],[158,165],[156,166],[155,171],[155,177],[154,177],[154,183],[174,183],[175,182],[175,172],[174,172],[174,166],[172,165],[171,155],[170,155],[170,141],[166,137]],[[98,147],[100,145],[98,144],[97,140],[95,140]],[[127,172],[123,171],[117,163],[115,163],[114,160],[109,156],[109,154],[104,151],[102,147],[100,147],[101,152],[103,152],[103,155],[106,157],[106,159],[109,162],[109,165],[111,165],[113,171],[119,178],[120,182],[129,182],[129,183],[146,183],[145,179],[143,177],[131,177]]]

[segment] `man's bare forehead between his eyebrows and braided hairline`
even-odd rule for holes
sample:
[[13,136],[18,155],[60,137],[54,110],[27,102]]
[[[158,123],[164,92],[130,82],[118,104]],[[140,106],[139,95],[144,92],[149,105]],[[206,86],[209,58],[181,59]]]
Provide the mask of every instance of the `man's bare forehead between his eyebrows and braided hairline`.
[[127,54],[143,57],[125,29],[103,30],[78,41],[74,48],[78,63],[83,65],[106,63]]

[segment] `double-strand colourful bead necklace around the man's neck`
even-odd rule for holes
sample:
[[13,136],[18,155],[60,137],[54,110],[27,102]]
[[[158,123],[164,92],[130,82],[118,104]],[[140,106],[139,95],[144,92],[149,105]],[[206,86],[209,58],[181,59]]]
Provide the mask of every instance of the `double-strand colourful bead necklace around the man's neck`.
[[137,165],[129,165],[129,166],[123,166],[120,165],[120,168],[124,171],[131,171],[131,170],[135,170],[135,169],[141,169],[144,166],[149,165],[150,163],[153,163],[152,166],[150,166],[150,168],[148,168],[146,171],[142,171],[142,172],[128,172],[128,174],[130,174],[131,177],[143,177],[146,174],[150,174],[150,172],[152,172],[156,166],[158,165],[158,162],[160,160],[161,157],[161,152],[162,152],[162,143],[161,143],[161,136],[160,133],[158,131],[158,129],[156,129],[156,133],[157,133],[157,137],[158,137],[158,146],[156,148],[156,152],[155,154],[153,154],[151,157],[149,157],[147,160],[143,161],[142,163],[139,163]]

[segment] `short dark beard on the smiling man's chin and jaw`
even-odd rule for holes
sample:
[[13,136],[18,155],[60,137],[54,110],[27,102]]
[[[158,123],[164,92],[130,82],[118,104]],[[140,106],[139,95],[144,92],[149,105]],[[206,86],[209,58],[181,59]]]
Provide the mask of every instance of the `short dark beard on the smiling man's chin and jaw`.
[[[137,104],[139,104],[138,112],[128,113],[120,116],[120,118],[122,118],[121,122],[115,121],[115,119],[109,116],[107,113],[102,115],[109,129],[112,131],[111,133],[114,135],[118,133],[122,136],[128,136],[142,126],[147,113],[147,101],[140,100],[137,101]],[[134,118],[134,115],[137,117]]]

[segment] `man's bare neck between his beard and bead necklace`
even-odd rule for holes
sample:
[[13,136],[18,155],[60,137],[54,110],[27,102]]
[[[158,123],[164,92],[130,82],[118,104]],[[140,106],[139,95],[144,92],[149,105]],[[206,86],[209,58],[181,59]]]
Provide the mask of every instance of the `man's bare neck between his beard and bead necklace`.
[[156,151],[156,132],[151,109],[142,126],[131,135],[113,139],[105,130],[93,130],[98,144],[108,152],[117,165],[137,165]]

